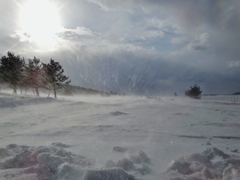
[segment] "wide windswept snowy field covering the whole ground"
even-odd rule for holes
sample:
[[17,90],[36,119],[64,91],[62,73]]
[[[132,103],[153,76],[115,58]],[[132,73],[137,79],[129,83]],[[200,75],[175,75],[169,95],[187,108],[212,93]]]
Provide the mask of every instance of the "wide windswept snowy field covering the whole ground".
[[240,104],[0,95],[1,180],[239,180]]

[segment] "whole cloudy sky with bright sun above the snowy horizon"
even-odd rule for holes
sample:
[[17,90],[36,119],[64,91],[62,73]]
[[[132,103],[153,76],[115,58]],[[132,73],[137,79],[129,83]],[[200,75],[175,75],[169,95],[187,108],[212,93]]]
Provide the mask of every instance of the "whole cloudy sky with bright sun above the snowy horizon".
[[0,0],[0,55],[60,62],[73,85],[240,91],[239,0]]

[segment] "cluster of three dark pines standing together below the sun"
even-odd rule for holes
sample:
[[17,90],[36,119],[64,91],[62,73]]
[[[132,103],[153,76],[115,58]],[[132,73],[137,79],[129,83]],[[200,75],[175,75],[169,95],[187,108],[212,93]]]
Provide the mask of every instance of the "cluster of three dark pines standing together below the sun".
[[54,97],[57,98],[57,89],[66,87],[70,82],[60,63],[53,59],[47,64],[36,57],[25,61],[13,52],[7,52],[7,55],[0,59],[0,83],[7,83],[14,94],[17,94],[19,88],[21,93],[23,88],[26,91],[32,88],[39,96],[39,89],[44,88],[48,90],[48,96],[53,90]]

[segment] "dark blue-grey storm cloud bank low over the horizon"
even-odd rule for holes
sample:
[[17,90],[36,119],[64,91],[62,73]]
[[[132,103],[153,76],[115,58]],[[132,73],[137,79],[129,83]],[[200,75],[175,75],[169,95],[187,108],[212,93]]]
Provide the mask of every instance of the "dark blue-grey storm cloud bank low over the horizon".
[[184,90],[195,83],[202,87],[204,93],[231,93],[240,88],[235,76],[240,75],[239,72],[226,76],[141,52],[138,55],[114,51],[111,54],[69,56],[62,53],[59,56],[64,59],[61,63],[73,84],[108,92],[173,94],[177,91],[184,94]]

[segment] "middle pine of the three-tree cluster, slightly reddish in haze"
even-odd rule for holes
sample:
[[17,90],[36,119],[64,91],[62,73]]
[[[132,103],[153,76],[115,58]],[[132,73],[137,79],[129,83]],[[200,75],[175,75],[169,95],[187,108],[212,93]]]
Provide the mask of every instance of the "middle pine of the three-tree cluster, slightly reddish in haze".
[[25,85],[32,87],[36,95],[39,96],[39,87],[42,84],[42,63],[40,59],[34,57],[28,60],[25,68]]

